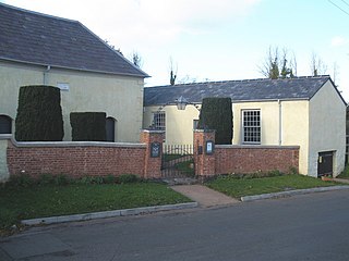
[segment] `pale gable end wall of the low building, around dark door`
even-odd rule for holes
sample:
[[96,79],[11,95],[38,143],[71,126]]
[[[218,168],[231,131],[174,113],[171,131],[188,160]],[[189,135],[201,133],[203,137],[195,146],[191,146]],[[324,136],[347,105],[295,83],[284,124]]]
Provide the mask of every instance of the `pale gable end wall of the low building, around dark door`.
[[345,167],[346,104],[328,80],[310,100],[309,175],[317,176],[318,152],[335,151],[334,176]]

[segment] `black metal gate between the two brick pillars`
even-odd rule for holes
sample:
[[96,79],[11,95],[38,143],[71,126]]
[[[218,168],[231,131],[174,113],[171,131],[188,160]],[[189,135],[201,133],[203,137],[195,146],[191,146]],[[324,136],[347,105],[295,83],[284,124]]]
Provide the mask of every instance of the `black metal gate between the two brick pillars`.
[[164,145],[163,177],[194,177],[194,157],[192,145]]

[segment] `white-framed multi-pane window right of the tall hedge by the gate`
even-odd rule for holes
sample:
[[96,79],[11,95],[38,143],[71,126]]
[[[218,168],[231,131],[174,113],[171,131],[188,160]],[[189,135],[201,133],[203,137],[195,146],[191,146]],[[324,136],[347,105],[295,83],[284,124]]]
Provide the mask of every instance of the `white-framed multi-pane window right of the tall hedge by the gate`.
[[[253,115],[255,113],[255,115]],[[250,115],[246,115],[250,114]],[[249,124],[245,120],[249,119]],[[258,120],[253,119],[258,117]],[[241,126],[242,126],[242,144],[249,144],[249,145],[261,145],[262,142],[262,113],[260,109],[253,109],[253,110],[241,110]],[[246,128],[250,128],[249,130],[249,137],[246,138]]]

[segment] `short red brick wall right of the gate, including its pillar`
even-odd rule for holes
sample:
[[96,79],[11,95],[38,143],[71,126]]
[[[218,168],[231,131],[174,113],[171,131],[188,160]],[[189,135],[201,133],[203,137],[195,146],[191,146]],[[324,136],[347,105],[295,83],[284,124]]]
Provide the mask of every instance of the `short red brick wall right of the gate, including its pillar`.
[[[289,173],[299,169],[299,146],[216,145],[213,154],[205,152],[207,140],[215,140],[213,130],[194,130],[195,175],[248,174],[278,170]],[[201,149],[200,149],[201,148]],[[198,151],[201,150],[201,153]]]

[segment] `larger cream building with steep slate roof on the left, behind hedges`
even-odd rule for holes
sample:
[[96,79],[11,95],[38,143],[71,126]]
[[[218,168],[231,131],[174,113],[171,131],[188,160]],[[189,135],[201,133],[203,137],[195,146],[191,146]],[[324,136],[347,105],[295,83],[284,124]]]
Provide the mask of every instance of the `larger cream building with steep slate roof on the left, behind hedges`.
[[14,133],[19,88],[61,89],[64,140],[71,112],[107,113],[109,141],[139,141],[146,73],[77,21],[0,3],[0,134]]

